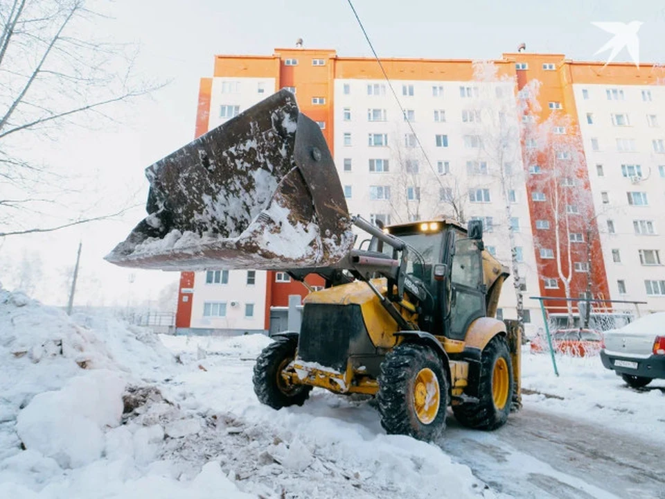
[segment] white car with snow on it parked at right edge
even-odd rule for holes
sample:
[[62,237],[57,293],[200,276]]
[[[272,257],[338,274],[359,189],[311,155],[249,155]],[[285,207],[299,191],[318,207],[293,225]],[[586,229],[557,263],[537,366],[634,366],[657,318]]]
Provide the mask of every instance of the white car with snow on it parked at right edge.
[[603,335],[603,365],[628,385],[639,388],[654,378],[665,378],[665,312],[645,315]]

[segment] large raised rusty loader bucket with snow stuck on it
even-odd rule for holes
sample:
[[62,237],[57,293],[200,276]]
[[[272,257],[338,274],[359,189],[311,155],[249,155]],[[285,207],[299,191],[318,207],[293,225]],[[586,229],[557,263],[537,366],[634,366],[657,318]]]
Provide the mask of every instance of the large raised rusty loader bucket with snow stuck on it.
[[337,263],[351,217],[317,123],[287,90],[145,170],[148,216],[105,259],[161,270]]

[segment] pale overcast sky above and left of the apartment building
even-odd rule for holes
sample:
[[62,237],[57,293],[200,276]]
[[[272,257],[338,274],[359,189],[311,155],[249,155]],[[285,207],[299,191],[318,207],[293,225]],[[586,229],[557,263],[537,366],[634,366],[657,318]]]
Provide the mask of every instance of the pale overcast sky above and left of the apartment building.
[[[665,63],[662,0],[355,0],[354,5],[382,57],[493,59],[525,42],[529,52],[604,60],[606,54],[594,53],[611,35],[592,21],[635,20],[644,22],[641,61]],[[45,160],[67,164],[72,171],[94,171],[103,198],[121,197],[136,187],[142,202],[148,190],[143,168],[193,139],[199,78],[212,76],[215,54],[269,55],[301,37],[306,48],[371,55],[346,0],[116,0],[107,12],[114,19],[100,32],[109,40],[141,44],[139,71],[170,84],[123,109],[123,125],[64,130],[44,146]],[[628,60],[626,51],[617,60]],[[126,304],[127,293],[131,299],[154,299],[176,274],[132,272],[102,260],[142,217],[143,209],[136,209],[123,220],[7,240],[0,245],[0,281],[11,281],[9,273],[24,252],[37,254],[44,278],[35,295],[64,304],[63,273],[73,265],[82,240],[80,304],[102,299]]]

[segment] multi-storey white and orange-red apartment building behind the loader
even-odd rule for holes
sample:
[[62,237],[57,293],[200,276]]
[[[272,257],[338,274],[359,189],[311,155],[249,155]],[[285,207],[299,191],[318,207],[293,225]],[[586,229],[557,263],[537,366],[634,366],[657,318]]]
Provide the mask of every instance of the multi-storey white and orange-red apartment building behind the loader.
[[[653,71],[640,73],[626,64],[603,70],[602,64],[571,62],[563,55],[529,53],[506,53],[484,68],[471,60],[383,64],[390,82],[375,60],[340,58],[333,50],[218,55],[213,78],[201,80],[196,134],[278,89],[290,89],[328,141],[351,213],[384,223],[481,218],[486,246],[509,266],[514,237],[525,297],[564,296],[558,255],[566,273],[570,254],[571,296],[587,292],[590,274],[594,297],[647,299],[650,310],[665,310],[665,297],[659,298],[665,295],[665,276],[657,275],[665,258],[657,235],[658,227],[665,230],[659,222],[665,187],[656,182],[665,175],[659,168],[665,161],[657,159],[665,157],[658,128],[665,87],[655,87]],[[515,92],[534,80],[540,82],[538,106],[523,109]],[[630,100],[607,100],[614,90]],[[651,100],[640,100],[643,90]],[[583,143],[569,187],[579,199],[588,198],[587,212],[579,213],[585,231],[566,234],[574,244],[560,243],[556,252],[557,223],[547,209],[553,192],[538,178],[547,173],[547,161],[528,154],[531,139],[524,134],[525,124],[544,123],[553,114],[569,119],[568,129],[558,132],[576,134]],[[597,121],[587,122],[587,114]],[[630,125],[614,124],[626,123],[623,119]],[[644,123],[638,125],[639,119]],[[621,152],[614,155],[619,144]],[[639,186],[647,183],[648,189]],[[608,233],[610,221],[623,233]],[[589,230],[596,236],[578,240]],[[323,284],[315,276],[308,282]],[[177,326],[233,333],[283,329],[288,295],[307,292],[279,272],[257,271],[254,279],[247,271],[184,272]],[[526,332],[533,334],[542,326],[540,306],[527,298],[525,308]],[[515,317],[512,277],[499,313]]]

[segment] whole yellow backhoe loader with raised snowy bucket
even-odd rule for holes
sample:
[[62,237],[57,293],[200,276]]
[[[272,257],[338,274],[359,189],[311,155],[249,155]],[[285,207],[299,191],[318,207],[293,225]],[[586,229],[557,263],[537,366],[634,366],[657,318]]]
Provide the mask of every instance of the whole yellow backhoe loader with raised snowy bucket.
[[[441,435],[448,405],[485,430],[519,405],[520,329],[494,318],[508,272],[484,249],[481,222],[350,216],[323,135],[289,92],[147,172],[149,215],[109,261],[326,279],[305,298],[301,330],[258,357],[262,403],[301,405],[313,387],[369,394],[387,432],[425,440]],[[352,227],[368,234],[358,249]]]

